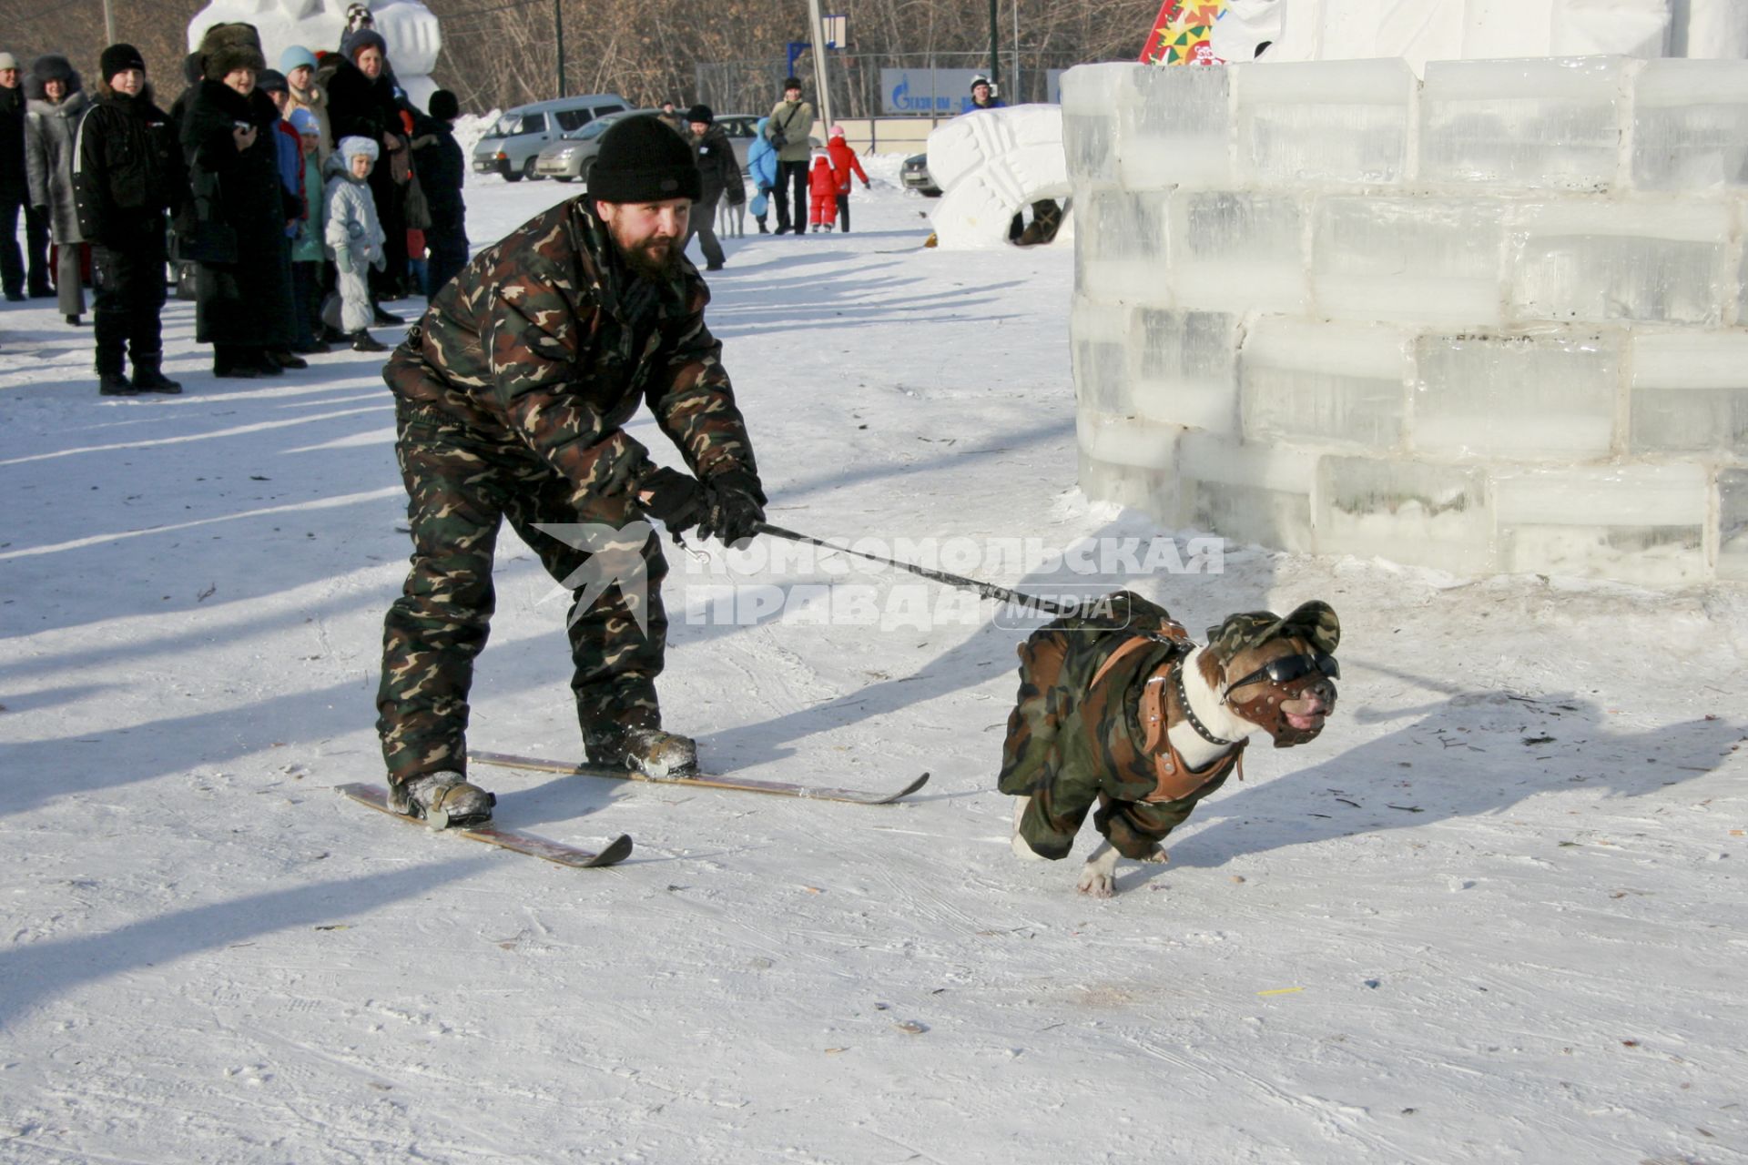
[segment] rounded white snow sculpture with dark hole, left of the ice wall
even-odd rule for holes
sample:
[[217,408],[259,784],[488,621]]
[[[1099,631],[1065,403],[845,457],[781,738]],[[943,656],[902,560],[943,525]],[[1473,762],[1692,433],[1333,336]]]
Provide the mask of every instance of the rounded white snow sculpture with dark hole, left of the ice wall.
[[954,117],[928,134],[928,173],[944,192],[930,215],[940,246],[1007,246],[1014,211],[1068,196],[1063,114],[1019,105]]

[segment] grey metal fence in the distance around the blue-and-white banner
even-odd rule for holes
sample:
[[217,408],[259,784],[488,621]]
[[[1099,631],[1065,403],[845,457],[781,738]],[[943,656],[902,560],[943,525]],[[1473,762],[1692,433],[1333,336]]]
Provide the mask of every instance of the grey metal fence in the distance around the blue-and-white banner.
[[[825,63],[827,82],[832,87],[834,117],[883,117],[883,68],[956,68],[988,73],[988,52],[832,52]],[[1079,65],[1065,52],[1037,52],[1021,49],[1002,52],[1000,89],[1009,105],[1049,100],[1049,72]],[[783,79],[788,65],[781,56],[757,61],[711,61],[694,65],[697,101],[718,112],[769,114],[783,98]],[[802,52],[795,59],[795,75],[808,82],[808,96],[818,108],[813,93],[813,56]],[[953,98],[965,94],[953,93]]]

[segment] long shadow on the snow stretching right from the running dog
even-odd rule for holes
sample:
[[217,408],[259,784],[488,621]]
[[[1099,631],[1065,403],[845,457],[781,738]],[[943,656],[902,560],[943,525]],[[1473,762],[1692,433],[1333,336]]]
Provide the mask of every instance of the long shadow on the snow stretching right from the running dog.
[[[1584,697],[1503,692],[1460,693],[1398,714],[1419,720],[1271,781],[1229,782],[1197,809],[1206,824],[1196,828],[1190,817],[1182,838],[1166,842],[1171,866],[1215,868],[1288,845],[1496,816],[1564,789],[1645,796],[1713,772],[1745,730],[1689,720],[1617,734]],[[1171,866],[1141,868],[1124,886]]]

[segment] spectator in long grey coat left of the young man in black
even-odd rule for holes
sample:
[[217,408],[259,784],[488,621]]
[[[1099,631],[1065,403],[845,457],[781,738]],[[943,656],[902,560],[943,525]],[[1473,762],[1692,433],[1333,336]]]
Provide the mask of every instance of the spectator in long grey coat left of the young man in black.
[[84,238],[79,234],[79,204],[73,199],[73,141],[79,121],[91,108],[79,73],[65,56],[38,56],[24,80],[24,168],[30,175],[30,204],[44,208],[58,248],[54,290],[61,314],[79,323],[86,313],[80,286]]

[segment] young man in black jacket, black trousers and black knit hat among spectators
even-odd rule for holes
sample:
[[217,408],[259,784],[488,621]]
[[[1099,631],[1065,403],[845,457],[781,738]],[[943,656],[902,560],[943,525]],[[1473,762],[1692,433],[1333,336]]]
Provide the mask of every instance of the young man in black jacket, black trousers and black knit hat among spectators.
[[[161,370],[164,346],[164,213],[182,204],[182,147],[152,103],[145,58],[112,44],[100,58],[98,101],[79,122],[73,201],[91,243],[98,391],[180,393]],[[124,356],[133,356],[133,381]]]

